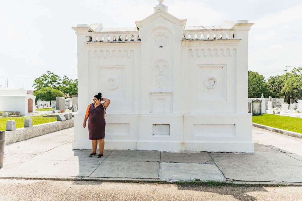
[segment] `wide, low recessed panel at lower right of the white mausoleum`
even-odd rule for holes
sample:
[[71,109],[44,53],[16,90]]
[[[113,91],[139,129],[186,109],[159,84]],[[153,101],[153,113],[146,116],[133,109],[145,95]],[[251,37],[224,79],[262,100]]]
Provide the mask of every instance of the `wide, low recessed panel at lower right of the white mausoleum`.
[[235,137],[235,124],[194,124],[194,136]]

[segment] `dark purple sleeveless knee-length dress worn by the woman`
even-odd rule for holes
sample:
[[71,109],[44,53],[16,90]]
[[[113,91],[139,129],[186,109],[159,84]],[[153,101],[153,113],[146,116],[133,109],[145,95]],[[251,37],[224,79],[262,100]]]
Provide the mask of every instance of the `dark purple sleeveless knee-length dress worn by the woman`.
[[89,139],[105,139],[106,121],[104,107],[101,105],[94,108],[94,103],[89,108],[88,131]]

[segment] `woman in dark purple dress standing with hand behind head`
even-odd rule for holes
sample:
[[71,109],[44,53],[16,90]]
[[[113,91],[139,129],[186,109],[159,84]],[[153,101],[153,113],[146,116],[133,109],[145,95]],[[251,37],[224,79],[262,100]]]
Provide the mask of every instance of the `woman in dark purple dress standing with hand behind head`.
[[[101,103],[101,101],[105,101]],[[102,98],[102,93],[98,93],[93,97],[94,103],[90,104],[87,107],[86,115],[84,117],[83,127],[86,127],[86,121],[88,120],[88,131],[89,131],[89,139],[92,140],[92,153],[89,157],[97,155],[97,146],[100,149],[100,154],[98,158],[103,156],[103,150],[105,145],[105,126],[106,121],[104,118],[105,110],[110,104],[110,100],[108,98]]]

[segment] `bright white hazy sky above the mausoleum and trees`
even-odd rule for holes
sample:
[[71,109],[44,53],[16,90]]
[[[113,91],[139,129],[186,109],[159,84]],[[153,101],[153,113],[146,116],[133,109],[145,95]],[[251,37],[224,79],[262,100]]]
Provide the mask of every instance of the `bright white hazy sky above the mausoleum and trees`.
[[[156,0],[9,0],[0,6],[0,85],[32,89],[47,70],[77,78],[76,24],[135,27]],[[249,32],[249,70],[268,78],[302,66],[301,0],[165,0],[187,26],[255,23]],[[292,70],[289,67],[289,70]]]

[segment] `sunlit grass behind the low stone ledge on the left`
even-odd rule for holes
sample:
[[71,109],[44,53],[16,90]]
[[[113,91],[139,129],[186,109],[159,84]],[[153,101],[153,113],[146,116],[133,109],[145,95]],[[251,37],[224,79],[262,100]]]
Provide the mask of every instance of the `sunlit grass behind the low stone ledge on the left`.
[[6,121],[7,120],[15,120],[16,121],[16,128],[23,128],[24,127],[24,119],[25,118],[32,118],[32,124],[38,125],[42,123],[48,122],[56,122],[57,117],[43,117],[41,116],[34,116],[34,117],[7,117],[7,118],[0,118],[0,130],[5,131]]

